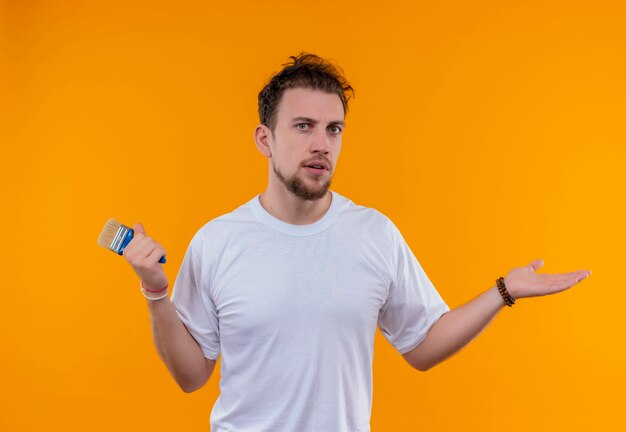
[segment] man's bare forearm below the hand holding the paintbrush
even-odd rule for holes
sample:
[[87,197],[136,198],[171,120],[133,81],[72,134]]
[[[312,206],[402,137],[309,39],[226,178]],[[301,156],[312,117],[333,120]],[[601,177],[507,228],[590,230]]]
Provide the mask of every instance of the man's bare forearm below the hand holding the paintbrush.
[[204,357],[168,298],[148,301],[148,309],[154,343],[171,375],[184,391],[199,389],[211,376],[215,361]]

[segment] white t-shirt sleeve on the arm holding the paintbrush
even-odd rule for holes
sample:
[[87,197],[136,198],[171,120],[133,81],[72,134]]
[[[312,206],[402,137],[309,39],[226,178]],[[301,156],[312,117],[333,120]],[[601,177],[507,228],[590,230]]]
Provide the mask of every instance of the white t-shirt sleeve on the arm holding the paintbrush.
[[219,318],[208,294],[208,269],[201,242],[196,235],[185,253],[174,283],[171,301],[179,318],[198,342],[204,356],[216,360],[220,354]]

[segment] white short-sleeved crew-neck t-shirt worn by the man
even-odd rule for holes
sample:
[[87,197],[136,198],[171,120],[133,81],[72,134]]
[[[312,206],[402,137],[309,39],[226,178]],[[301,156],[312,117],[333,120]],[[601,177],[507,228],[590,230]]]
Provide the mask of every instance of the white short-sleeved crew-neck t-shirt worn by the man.
[[376,327],[406,353],[449,310],[393,223],[335,192],[310,225],[258,196],[207,223],[171,299],[222,356],[213,432],[369,431]]

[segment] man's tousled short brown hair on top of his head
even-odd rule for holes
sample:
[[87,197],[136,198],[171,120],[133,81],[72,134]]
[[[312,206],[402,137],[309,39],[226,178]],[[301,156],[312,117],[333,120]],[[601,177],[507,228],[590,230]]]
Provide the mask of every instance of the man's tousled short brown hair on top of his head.
[[343,70],[315,54],[300,53],[289,57],[291,62],[275,74],[259,92],[259,118],[272,132],[276,127],[276,111],[285,90],[310,88],[335,93],[341,99],[343,112],[348,112],[348,100],[354,89],[343,75]]

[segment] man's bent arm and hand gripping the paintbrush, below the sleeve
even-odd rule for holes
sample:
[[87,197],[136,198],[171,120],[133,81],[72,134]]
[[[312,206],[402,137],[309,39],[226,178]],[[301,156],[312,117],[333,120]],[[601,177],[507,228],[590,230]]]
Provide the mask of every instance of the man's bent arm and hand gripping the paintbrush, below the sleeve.
[[[124,257],[142,281],[146,296],[161,297],[160,291],[168,286],[167,276],[159,264],[162,256],[165,250],[146,236],[141,224],[135,225],[134,238],[124,249]],[[215,360],[204,357],[200,345],[189,334],[167,296],[147,302],[152,335],[161,359],[183,391],[198,390],[211,377]]]

